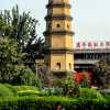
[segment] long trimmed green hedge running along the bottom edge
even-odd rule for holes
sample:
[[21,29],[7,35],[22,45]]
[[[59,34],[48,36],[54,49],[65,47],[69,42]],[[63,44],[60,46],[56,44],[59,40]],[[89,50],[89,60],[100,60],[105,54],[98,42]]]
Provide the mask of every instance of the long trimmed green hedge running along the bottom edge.
[[110,110],[109,101],[67,97],[9,97],[0,99],[0,110]]

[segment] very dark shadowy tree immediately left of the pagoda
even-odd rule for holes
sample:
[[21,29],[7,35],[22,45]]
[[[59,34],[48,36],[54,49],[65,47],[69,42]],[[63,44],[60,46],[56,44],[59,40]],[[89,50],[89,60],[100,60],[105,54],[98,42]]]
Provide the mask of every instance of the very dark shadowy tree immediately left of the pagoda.
[[36,70],[35,59],[44,58],[44,47],[45,47],[44,40],[38,37],[34,44],[28,44],[24,48],[24,53],[28,53],[25,55],[24,62],[30,66],[30,68],[33,68],[32,69],[33,72]]

